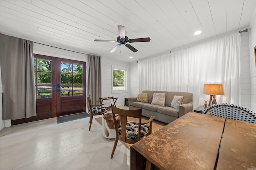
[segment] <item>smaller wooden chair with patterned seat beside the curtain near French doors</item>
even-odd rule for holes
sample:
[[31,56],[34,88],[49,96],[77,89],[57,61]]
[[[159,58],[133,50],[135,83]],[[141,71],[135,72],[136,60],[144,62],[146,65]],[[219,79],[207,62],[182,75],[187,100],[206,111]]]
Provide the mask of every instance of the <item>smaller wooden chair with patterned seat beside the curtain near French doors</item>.
[[87,97],[87,107],[90,114],[89,131],[91,130],[93,116],[101,115],[107,112],[106,108],[103,106],[104,104],[101,104],[100,102],[101,101],[91,101],[90,96]]

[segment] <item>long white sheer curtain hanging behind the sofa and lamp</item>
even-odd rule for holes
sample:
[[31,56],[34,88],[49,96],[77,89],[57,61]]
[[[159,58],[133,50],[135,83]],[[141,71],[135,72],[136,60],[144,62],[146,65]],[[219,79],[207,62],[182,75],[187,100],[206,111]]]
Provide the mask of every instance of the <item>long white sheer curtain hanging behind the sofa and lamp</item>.
[[240,105],[240,33],[138,62],[142,90],[193,93],[194,108],[209,100],[204,84],[223,84],[218,103]]

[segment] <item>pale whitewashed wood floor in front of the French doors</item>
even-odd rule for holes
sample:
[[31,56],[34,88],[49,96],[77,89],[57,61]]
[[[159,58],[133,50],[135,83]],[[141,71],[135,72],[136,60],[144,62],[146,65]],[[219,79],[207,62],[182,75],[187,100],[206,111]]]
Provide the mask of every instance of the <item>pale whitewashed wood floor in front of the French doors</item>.
[[[98,115],[95,117],[99,117]],[[0,170],[129,170],[130,150],[102,135],[102,125],[86,117],[57,124],[56,118],[0,131]]]

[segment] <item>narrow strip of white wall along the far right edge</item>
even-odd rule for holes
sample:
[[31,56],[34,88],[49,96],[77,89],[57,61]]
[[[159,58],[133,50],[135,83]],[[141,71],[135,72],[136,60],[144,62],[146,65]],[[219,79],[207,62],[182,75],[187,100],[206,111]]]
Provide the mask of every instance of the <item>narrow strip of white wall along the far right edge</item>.
[[250,23],[250,76],[251,76],[251,109],[256,112],[256,66],[254,57],[254,47],[256,46],[256,9]]

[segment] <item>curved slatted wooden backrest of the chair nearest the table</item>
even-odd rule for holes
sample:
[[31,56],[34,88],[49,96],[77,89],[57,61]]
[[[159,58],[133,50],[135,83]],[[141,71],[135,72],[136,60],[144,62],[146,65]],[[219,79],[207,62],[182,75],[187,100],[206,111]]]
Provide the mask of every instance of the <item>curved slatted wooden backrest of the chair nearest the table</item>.
[[[116,137],[118,137],[118,139],[120,141],[123,141],[125,143],[130,143],[130,144],[134,144],[137,141],[139,141],[140,140],[140,127],[141,127],[141,109],[135,109],[135,110],[120,109],[120,108],[114,107],[112,104],[111,104],[111,107],[112,107],[112,114],[113,114],[113,119],[114,119],[114,126],[115,126],[115,130],[116,130]],[[120,116],[122,135],[119,135],[119,133],[118,133],[119,122],[116,121],[115,114],[118,114]],[[134,117],[134,118],[139,119],[137,139],[127,139],[126,138],[127,117]]]

